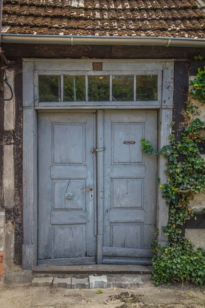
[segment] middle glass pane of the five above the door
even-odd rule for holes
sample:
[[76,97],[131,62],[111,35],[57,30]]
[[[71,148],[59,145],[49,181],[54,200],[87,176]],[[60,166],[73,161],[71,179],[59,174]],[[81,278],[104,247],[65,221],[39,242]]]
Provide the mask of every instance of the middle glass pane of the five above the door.
[[110,101],[110,76],[88,76],[88,100]]

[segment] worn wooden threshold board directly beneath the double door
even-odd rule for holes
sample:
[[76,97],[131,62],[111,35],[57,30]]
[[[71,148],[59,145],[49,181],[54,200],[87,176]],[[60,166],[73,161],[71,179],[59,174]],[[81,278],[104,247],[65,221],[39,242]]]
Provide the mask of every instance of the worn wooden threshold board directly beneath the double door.
[[38,265],[33,274],[151,274],[152,267],[135,264]]

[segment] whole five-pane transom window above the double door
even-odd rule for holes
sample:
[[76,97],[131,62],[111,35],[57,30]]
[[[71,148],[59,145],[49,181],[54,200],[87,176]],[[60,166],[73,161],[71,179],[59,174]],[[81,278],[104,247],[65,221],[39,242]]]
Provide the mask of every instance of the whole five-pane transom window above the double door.
[[159,89],[157,72],[38,75],[38,101],[41,103],[156,102]]

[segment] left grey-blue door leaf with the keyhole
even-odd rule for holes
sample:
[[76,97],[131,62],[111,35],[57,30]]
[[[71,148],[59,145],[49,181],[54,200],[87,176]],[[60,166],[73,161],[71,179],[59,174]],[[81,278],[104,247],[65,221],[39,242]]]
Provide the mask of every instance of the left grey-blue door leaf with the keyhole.
[[94,147],[94,113],[39,114],[38,264],[96,262]]

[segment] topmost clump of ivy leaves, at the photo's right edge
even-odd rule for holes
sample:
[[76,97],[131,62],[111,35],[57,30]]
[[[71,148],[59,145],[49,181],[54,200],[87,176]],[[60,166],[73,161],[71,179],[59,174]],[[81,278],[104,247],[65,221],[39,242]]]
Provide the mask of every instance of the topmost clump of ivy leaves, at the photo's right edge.
[[193,94],[194,99],[199,100],[202,105],[205,104],[205,66],[203,70],[198,68],[196,79],[190,81],[190,83],[193,85],[190,92]]

